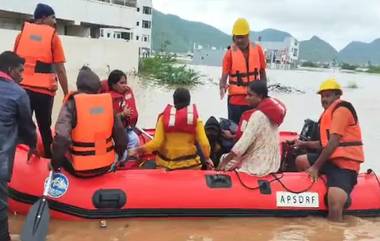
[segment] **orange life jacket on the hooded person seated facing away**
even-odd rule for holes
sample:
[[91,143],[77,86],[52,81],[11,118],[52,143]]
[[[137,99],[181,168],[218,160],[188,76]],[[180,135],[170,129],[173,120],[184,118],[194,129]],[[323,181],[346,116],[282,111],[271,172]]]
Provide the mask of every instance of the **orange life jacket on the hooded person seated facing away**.
[[72,130],[72,166],[76,171],[112,165],[114,113],[110,94],[74,95],[77,124]]

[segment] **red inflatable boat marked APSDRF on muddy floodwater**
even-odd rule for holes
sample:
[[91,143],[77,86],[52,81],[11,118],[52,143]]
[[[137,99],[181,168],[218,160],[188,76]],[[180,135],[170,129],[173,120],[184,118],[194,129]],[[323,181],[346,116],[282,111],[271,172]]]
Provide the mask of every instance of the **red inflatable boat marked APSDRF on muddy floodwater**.
[[[296,133],[282,132],[281,139]],[[26,162],[27,148],[16,152],[9,208],[26,214],[41,196],[48,160]],[[358,177],[346,214],[380,215],[376,175]],[[117,170],[81,179],[65,171],[54,175],[49,191],[53,218],[106,219],[127,217],[307,216],[325,215],[325,177],[312,183],[306,173],[284,172],[254,177],[238,172],[202,170]]]

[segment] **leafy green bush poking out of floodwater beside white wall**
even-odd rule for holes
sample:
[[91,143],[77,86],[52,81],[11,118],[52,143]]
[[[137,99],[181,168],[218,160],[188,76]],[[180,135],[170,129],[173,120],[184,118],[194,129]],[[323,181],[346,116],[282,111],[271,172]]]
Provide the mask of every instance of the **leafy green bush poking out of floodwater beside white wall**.
[[175,55],[168,53],[141,59],[139,75],[169,87],[195,86],[201,83],[198,72],[177,63]]

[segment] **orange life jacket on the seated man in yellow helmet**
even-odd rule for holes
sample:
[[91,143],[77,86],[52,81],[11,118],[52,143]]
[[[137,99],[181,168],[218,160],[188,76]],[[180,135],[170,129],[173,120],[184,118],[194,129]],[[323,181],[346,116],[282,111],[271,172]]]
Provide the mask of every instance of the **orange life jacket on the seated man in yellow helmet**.
[[351,103],[342,100],[336,100],[323,113],[320,118],[320,135],[322,147],[326,147],[329,142],[330,128],[334,111],[339,107],[348,108],[354,119],[355,124],[346,128],[345,133],[340,139],[339,146],[330,156],[330,159],[345,158],[357,162],[364,161],[363,143],[361,130],[358,123],[356,111]]

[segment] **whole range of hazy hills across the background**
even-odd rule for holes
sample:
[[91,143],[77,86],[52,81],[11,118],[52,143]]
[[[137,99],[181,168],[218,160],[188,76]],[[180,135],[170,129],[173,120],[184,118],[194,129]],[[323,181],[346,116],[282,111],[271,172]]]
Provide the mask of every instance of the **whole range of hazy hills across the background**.
[[[251,32],[251,39],[257,41],[282,41],[290,33],[276,29]],[[204,48],[224,49],[231,44],[231,35],[210,25],[184,20],[171,14],[153,10],[152,48],[160,51],[186,53],[192,51],[194,44]],[[380,39],[371,43],[352,42],[339,53],[328,42],[313,36],[310,40],[300,42],[300,60],[312,62],[330,62],[338,59],[350,64],[380,64]]]

